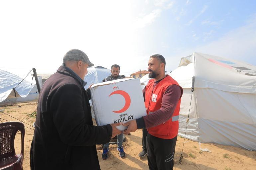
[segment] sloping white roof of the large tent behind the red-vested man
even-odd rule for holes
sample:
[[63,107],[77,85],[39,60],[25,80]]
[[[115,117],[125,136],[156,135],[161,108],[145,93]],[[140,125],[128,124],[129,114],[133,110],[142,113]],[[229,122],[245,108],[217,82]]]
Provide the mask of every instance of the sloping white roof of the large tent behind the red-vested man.
[[183,57],[170,75],[183,88],[211,88],[256,94],[256,66],[218,56],[196,53]]

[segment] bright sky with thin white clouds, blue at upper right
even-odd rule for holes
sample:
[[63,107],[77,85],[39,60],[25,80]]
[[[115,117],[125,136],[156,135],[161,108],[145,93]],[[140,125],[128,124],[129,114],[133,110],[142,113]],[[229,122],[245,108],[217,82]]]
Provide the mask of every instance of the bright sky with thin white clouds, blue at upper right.
[[64,54],[128,76],[162,54],[166,71],[201,52],[256,65],[256,1],[0,1],[0,69],[54,73]]

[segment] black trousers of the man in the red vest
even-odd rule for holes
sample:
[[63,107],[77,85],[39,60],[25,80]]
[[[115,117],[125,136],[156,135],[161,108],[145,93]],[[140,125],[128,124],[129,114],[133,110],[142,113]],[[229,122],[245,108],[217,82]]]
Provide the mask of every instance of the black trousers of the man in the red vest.
[[147,135],[148,166],[150,170],[172,170],[177,136],[172,139]]

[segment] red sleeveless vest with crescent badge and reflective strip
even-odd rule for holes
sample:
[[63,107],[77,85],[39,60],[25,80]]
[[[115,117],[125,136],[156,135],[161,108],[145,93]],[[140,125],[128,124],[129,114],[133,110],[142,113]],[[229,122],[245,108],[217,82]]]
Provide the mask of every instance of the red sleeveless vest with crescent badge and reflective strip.
[[[153,90],[154,83],[154,79],[149,80],[145,89],[145,106],[147,114],[161,108],[163,94],[170,85],[178,85],[180,87],[180,85],[169,75],[161,80]],[[172,118],[158,126],[149,128],[148,133],[163,139],[172,139],[177,136],[179,129],[180,105],[181,99],[179,99],[176,105]]]

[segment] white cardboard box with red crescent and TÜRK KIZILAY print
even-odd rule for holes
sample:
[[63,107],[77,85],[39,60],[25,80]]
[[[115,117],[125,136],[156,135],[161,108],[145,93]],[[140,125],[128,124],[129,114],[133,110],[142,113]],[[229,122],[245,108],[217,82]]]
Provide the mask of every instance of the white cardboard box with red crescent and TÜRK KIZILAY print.
[[[146,116],[139,78],[94,84],[91,87],[91,99],[98,126],[128,122]],[[127,129],[123,125],[117,128]]]

